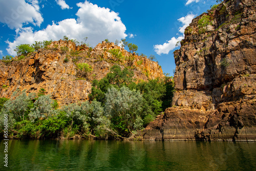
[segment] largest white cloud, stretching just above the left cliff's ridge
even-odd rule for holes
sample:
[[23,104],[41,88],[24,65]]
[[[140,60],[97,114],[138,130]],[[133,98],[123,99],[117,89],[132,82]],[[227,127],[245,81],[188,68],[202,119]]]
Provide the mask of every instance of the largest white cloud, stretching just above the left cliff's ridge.
[[58,23],[48,25],[46,29],[34,32],[31,27],[17,29],[17,36],[13,42],[6,41],[8,53],[16,55],[13,51],[20,44],[33,44],[35,41],[59,40],[64,35],[71,39],[82,41],[88,37],[87,43],[96,46],[102,40],[108,38],[115,42],[125,38],[126,27],[118,16],[118,13],[108,8],[100,8],[89,2],[78,3],[78,19],[70,18]]

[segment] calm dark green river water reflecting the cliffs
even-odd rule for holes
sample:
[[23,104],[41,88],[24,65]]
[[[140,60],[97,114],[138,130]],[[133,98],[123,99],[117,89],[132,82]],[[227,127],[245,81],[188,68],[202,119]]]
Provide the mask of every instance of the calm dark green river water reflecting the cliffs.
[[256,170],[255,142],[9,140],[0,170]]

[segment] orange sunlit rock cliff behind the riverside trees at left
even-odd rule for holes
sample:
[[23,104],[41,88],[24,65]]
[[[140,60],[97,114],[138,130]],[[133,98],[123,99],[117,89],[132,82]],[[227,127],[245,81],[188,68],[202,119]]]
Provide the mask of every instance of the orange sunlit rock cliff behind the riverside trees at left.
[[[119,49],[122,58],[110,53],[111,49]],[[92,72],[79,78],[77,63],[88,63]],[[164,76],[157,62],[104,41],[94,49],[76,46],[72,41],[54,41],[47,49],[39,49],[25,59],[15,57],[9,63],[0,60],[0,65],[1,97],[9,98],[17,89],[38,93],[44,88],[60,105],[88,100],[92,80],[103,78],[113,65],[130,68],[137,80]]]

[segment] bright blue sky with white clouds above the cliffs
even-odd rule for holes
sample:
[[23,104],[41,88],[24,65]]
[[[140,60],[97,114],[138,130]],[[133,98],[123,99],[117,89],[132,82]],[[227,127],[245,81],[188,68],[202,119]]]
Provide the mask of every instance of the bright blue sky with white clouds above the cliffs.
[[137,53],[155,55],[164,73],[173,75],[173,52],[185,27],[206,12],[214,0],[0,0],[0,57],[34,41],[59,40],[64,35],[95,47],[108,38],[126,38]]

